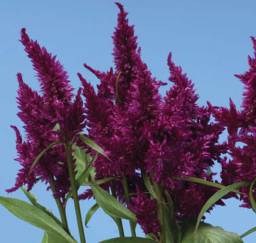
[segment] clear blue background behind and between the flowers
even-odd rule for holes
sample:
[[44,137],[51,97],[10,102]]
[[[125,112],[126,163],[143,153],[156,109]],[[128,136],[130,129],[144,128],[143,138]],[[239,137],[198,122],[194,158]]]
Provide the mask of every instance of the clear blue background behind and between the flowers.
[[[142,60],[152,75],[168,81],[167,56],[172,52],[173,61],[183,68],[195,83],[198,103],[207,100],[216,106],[228,106],[232,97],[237,107],[242,101],[243,85],[233,74],[248,70],[247,56],[253,55],[250,36],[256,36],[256,1],[254,0],[120,0],[129,12],[130,24],[135,25],[135,35],[142,47]],[[112,33],[117,24],[118,8],[113,0],[2,0],[0,1],[0,137],[1,176],[0,195],[7,196],[6,188],[15,182],[20,166],[16,158],[15,134],[10,125],[20,129],[23,124],[16,113],[16,73],[21,72],[24,81],[39,90],[35,72],[18,41],[21,28],[27,29],[32,39],[37,39],[68,71],[71,84],[80,86],[76,75],[98,84],[83,63],[101,71],[108,71],[112,63]],[[169,84],[168,87],[170,87]],[[165,94],[168,88],[161,88]],[[226,139],[223,136],[223,139]],[[218,170],[218,168],[216,168]],[[32,193],[39,203],[58,211],[46,192],[44,184],[38,184]],[[25,200],[21,190],[8,195]],[[193,199],[192,199],[193,200]],[[224,230],[242,234],[256,226],[252,210],[238,207],[238,200],[226,200],[227,207],[216,207],[206,214],[206,222],[221,226]],[[93,201],[83,201],[83,219]],[[73,202],[67,207],[70,228],[79,239],[76,229]],[[43,231],[15,218],[0,206],[1,243],[39,243]],[[85,229],[87,243],[98,243],[118,236],[112,219],[98,211]],[[126,224],[127,235],[130,235]],[[141,231],[139,235],[143,235]],[[254,243],[256,233],[244,238]]]

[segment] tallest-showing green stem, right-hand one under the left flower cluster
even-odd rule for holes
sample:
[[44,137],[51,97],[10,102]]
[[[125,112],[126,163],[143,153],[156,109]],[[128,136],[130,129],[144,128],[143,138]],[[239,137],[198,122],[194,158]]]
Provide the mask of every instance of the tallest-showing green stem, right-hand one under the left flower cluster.
[[67,162],[68,162],[69,176],[70,176],[70,182],[71,182],[71,187],[72,187],[71,190],[73,193],[74,208],[75,208],[76,220],[77,220],[77,225],[78,225],[78,230],[79,230],[79,235],[80,235],[80,241],[81,241],[81,243],[85,243],[85,232],[84,232],[84,227],[83,227],[83,222],[82,222],[78,194],[77,194],[77,190],[76,190],[71,144],[69,143],[67,134],[64,131],[61,131],[61,132],[65,139],[64,148],[65,148]]

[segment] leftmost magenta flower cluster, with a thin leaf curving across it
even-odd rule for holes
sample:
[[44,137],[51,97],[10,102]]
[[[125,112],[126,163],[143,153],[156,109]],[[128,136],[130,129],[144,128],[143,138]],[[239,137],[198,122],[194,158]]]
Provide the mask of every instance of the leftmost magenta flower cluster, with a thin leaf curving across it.
[[[6,191],[13,192],[24,184],[31,190],[39,178],[45,183],[54,181],[54,196],[64,199],[71,185],[63,146],[53,146],[38,160],[33,169],[31,166],[39,153],[50,144],[56,141],[64,142],[63,134],[71,140],[85,128],[81,89],[72,102],[73,88],[69,85],[68,75],[63,66],[59,61],[55,61],[56,56],[51,57],[37,41],[30,40],[25,29],[21,31],[21,42],[37,72],[42,94],[26,85],[21,73],[17,74],[17,99],[21,110],[18,116],[25,124],[27,141],[23,142],[18,129],[12,126],[17,136],[16,148],[19,158],[16,160],[23,168],[18,173],[15,186]],[[56,125],[59,125],[60,129],[56,129]]]

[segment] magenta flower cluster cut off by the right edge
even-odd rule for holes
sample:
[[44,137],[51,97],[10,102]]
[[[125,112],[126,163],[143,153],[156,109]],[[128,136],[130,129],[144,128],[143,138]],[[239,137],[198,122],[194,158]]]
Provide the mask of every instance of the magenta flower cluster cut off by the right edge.
[[[221,107],[214,111],[217,121],[228,129],[229,153],[231,159],[222,162],[221,178],[224,185],[235,182],[253,182],[256,178],[256,39],[255,58],[248,56],[250,69],[241,75],[235,75],[244,84],[242,110],[238,111],[230,99],[230,109]],[[240,188],[242,207],[252,208],[249,200],[250,186]],[[256,192],[253,190],[256,198]]]

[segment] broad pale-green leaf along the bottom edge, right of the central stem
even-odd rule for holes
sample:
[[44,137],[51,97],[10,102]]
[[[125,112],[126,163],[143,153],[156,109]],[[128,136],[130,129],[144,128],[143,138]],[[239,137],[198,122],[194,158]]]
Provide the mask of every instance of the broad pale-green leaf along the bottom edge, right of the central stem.
[[195,222],[189,224],[183,231],[182,243],[243,243],[236,233],[224,231],[221,227],[200,222],[193,236]]

